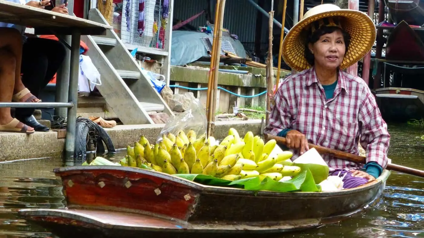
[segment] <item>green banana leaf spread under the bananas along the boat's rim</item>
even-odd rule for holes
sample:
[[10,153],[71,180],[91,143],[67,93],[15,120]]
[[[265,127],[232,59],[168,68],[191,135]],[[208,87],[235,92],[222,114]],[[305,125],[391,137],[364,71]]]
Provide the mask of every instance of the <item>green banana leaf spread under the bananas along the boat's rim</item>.
[[273,179],[268,177],[266,177],[262,181],[259,180],[259,177],[229,181],[203,174],[175,174],[174,176],[185,178],[187,180],[194,181],[196,183],[201,183],[204,185],[233,187],[252,191],[321,191],[321,186],[315,184],[314,178],[309,169],[302,171],[296,177],[284,182],[274,181]]

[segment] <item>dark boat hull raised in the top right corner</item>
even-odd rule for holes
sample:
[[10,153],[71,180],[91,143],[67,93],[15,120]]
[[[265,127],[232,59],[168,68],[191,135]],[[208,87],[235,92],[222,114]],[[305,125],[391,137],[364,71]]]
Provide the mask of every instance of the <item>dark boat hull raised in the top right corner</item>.
[[396,23],[405,21],[409,25],[424,24],[424,0],[385,0],[385,4]]

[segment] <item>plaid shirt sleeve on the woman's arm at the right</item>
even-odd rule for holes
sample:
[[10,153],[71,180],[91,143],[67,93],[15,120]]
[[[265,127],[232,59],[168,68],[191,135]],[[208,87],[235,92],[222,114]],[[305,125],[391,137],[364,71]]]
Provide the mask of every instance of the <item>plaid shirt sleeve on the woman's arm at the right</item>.
[[360,144],[366,151],[365,164],[374,161],[384,169],[388,163],[390,135],[377,102],[368,87],[365,88],[364,94],[359,122],[361,124]]

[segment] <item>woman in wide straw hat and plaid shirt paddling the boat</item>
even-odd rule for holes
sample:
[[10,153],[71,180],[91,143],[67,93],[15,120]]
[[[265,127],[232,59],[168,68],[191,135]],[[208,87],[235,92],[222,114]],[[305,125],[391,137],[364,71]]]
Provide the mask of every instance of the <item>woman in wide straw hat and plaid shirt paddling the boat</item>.
[[286,137],[293,159],[308,142],[358,154],[366,164],[322,155],[330,175],[343,176],[344,188],[377,178],[387,166],[390,135],[368,85],[342,70],[360,60],[374,44],[371,19],[332,4],[310,9],[283,42],[283,59],[300,71],[285,79],[274,96],[275,106],[265,133]]

